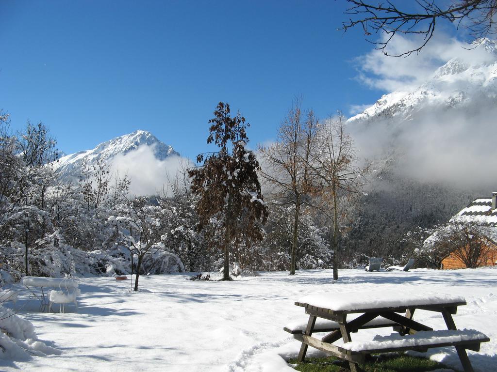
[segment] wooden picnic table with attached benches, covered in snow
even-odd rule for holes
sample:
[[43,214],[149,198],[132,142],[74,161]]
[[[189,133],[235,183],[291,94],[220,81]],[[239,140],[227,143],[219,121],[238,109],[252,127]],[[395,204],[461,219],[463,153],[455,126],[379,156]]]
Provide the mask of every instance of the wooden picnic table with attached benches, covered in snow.
[[[347,360],[352,372],[372,353],[405,350],[426,351],[428,348],[454,346],[465,372],[472,372],[466,349],[478,351],[489,338],[476,330],[458,330],[452,314],[466,305],[460,296],[439,293],[375,293],[355,292],[340,297],[330,294],[309,295],[295,302],[309,314],[307,324],[291,323],[284,329],[302,342],[299,361],[304,361],[308,346]],[[448,330],[432,328],[413,320],[414,310],[440,312]],[[405,315],[401,313],[405,312]],[[349,315],[349,321],[347,321]],[[350,333],[360,329],[392,326],[398,333],[375,336],[366,342],[353,342]],[[321,339],[313,332],[330,332]],[[342,346],[333,342],[342,339]]]

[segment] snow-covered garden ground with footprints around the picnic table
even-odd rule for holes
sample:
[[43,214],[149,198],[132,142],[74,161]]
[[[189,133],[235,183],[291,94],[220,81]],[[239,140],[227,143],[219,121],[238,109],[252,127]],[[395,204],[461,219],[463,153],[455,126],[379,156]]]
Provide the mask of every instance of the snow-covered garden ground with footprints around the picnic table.
[[[233,282],[157,275],[142,277],[139,293],[129,292],[129,280],[86,278],[80,279],[78,312],[65,314],[36,312],[38,304],[20,293],[17,307],[24,306],[20,315],[33,322],[40,340],[62,353],[27,362],[0,360],[0,370],[291,372],[282,357],[295,357],[300,345],[283,327],[296,318],[306,319],[294,301],[317,293],[406,290],[465,297],[468,305],[454,315],[456,325],[480,330],[491,339],[480,352],[468,351],[473,367],[481,372],[497,370],[496,268],[341,270],[339,276],[332,283],[331,270],[300,271],[295,276],[261,273]],[[446,328],[438,313],[416,311],[414,319],[434,329]],[[352,339],[391,332],[391,328],[363,330]],[[314,354],[310,348],[308,355]],[[454,348],[434,349],[427,355],[461,370]]]

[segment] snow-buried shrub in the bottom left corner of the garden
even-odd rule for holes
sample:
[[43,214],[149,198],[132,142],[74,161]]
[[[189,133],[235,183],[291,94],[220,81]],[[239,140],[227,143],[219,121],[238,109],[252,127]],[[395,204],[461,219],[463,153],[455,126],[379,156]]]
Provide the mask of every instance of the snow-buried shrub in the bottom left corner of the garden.
[[60,350],[39,341],[33,324],[0,304],[0,359],[25,361],[31,356],[60,355]]

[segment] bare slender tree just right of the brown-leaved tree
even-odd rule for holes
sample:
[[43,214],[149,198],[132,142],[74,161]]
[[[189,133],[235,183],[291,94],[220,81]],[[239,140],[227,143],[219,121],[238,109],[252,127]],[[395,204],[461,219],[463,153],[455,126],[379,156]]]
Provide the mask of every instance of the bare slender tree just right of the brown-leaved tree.
[[302,112],[301,106],[301,99],[295,99],[278,127],[276,142],[259,148],[264,163],[260,173],[272,186],[272,199],[295,208],[290,275],[295,274],[299,218],[303,206],[312,205],[316,190],[309,161],[316,146],[318,119],[312,110]]

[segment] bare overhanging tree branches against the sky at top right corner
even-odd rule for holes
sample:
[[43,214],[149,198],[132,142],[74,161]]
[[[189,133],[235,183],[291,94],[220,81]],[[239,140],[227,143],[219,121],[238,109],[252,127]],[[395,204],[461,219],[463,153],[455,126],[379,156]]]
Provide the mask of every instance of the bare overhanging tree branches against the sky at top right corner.
[[401,1],[403,8],[394,1],[376,2],[363,0],[347,0],[351,7],[345,14],[348,21],[342,23],[344,31],[354,26],[364,30],[366,38],[373,34],[385,33],[385,41],[373,41],[377,50],[388,54],[386,48],[397,34],[422,35],[423,39],[417,48],[407,50],[394,57],[409,56],[419,52],[433,37],[438,21],[457,23],[457,27],[469,30],[470,35],[481,38],[496,33],[495,15],[497,12],[496,0],[417,0],[418,8],[411,10]]

